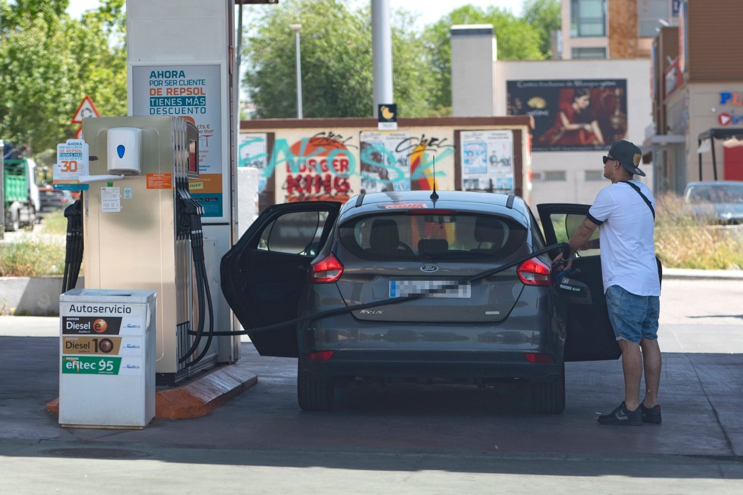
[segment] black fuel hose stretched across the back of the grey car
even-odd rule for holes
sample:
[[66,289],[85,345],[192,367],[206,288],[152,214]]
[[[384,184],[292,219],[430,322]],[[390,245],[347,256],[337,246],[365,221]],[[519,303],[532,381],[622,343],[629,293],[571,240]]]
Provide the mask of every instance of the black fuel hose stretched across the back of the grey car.
[[[467,278],[466,281],[471,283],[474,281],[481,280],[482,278],[490,277],[490,275],[495,275],[496,273],[504,272],[505,270],[509,268],[513,268],[513,266],[520,265],[521,263],[524,263],[527,260],[531,260],[531,258],[540,256],[540,255],[545,255],[548,252],[554,251],[556,249],[562,250],[563,258],[568,258],[568,255],[570,253],[570,246],[568,245],[568,243],[557,243],[557,244],[553,244],[552,246],[547,246],[543,249],[538,249],[537,251],[531,252],[528,255],[522,256],[521,258],[517,260],[510,261],[509,263],[506,263],[497,268],[493,268],[493,269],[478,273],[478,275]],[[343,308],[325,309],[325,311],[320,311],[312,315],[306,315],[300,318],[294,318],[293,320],[282,321],[281,323],[267,325],[265,327],[250,328],[248,330],[241,330],[239,332],[212,332],[212,334],[222,337],[222,336],[230,336],[230,335],[247,335],[247,333],[249,332],[251,333],[252,332],[270,332],[272,330],[279,330],[280,328],[291,327],[293,325],[300,324],[305,321],[317,320],[319,318],[328,318],[328,316],[343,315],[343,313],[345,312],[356,311],[357,309],[372,308],[374,306],[386,306],[388,304],[399,304],[405,301],[411,301],[413,299],[423,298],[424,296],[429,295],[431,293],[438,292],[444,289],[450,289],[450,288],[455,288],[455,284],[452,283],[452,286],[441,286],[441,287],[437,287],[436,289],[427,289],[427,290],[424,290],[424,292],[421,292],[419,294],[406,295],[401,298],[389,298],[389,299],[383,299],[381,301],[374,301],[372,303],[355,304],[354,306],[345,306]],[[193,334],[194,332],[189,332],[189,333]]]

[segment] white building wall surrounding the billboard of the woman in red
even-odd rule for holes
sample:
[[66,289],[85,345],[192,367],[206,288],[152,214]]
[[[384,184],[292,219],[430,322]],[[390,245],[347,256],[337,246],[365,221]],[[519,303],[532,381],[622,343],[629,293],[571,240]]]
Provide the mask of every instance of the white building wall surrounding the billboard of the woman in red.
[[[627,137],[642,145],[645,128],[652,122],[649,59],[621,60],[514,60],[496,62],[496,115],[506,115],[506,82],[518,79],[626,79]],[[601,157],[606,151],[533,151],[532,172],[566,172],[565,181],[532,183],[531,204],[592,203],[608,180],[584,180],[586,170],[602,170]],[[652,166],[640,165],[652,187]],[[639,178],[639,177],[638,177]]]

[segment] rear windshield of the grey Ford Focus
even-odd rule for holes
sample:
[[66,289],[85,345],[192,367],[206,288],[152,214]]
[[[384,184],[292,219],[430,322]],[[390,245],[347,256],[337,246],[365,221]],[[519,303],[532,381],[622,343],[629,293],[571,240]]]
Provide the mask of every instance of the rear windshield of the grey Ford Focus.
[[485,214],[375,214],[340,226],[345,249],[371,260],[499,260],[526,240],[509,217]]

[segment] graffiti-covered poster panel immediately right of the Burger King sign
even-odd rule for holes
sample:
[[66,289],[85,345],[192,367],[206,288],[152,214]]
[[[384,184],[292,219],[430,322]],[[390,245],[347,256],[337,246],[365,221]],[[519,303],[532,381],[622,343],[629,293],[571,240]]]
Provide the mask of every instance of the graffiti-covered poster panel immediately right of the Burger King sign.
[[361,191],[409,191],[410,154],[401,142],[407,142],[406,132],[361,133]]

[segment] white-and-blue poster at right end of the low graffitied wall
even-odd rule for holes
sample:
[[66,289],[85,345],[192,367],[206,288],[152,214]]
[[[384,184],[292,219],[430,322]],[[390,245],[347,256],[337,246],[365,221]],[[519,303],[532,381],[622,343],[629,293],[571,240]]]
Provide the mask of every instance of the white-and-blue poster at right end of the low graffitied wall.
[[513,133],[511,131],[462,131],[462,189],[513,191]]

